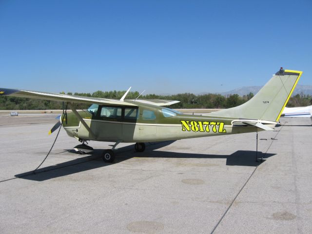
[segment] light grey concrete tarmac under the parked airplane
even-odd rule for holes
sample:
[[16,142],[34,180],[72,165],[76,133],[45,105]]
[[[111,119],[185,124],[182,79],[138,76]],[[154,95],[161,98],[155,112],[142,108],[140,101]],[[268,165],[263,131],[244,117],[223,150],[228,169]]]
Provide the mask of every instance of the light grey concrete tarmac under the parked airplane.
[[[281,118],[276,131],[148,144],[136,153],[90,142],[92,155],[55,114],[0,116],[0,233],[312,233],[312,126]],[[28,176],[27,176],[28,175]]]

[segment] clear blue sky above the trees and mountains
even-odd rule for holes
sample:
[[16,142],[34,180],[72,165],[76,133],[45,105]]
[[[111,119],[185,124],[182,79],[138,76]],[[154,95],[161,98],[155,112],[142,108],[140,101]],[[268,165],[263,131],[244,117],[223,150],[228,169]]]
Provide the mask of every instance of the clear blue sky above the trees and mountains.
[[0,0],[0,87],[214,93],[280,66],[312,85],[311,0]]

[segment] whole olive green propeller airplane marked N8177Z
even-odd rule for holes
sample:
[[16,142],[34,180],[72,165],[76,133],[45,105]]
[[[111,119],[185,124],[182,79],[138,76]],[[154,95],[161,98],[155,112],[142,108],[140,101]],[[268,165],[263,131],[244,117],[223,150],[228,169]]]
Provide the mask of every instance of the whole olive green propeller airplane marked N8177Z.
[[[102,154],[105,162],[113,162],[115,147],[121,142],[136,142],[135,150],[143,152],[144,142],[273,130],[301,74],[281,68],[246,103],[207,115],[183,115],[164,107],[178,101],[127,100],[131,87],[120,100],[4,88],[0,88],[0,95],[66,102],[72,112],[61,115],[50,134],[62,125],[68,136],[82,143],[74,148],[80,154],[93,151],[87,141],[115,142],[112,149]],[[77,111],[74,103],[91,106],[87,111]]]

